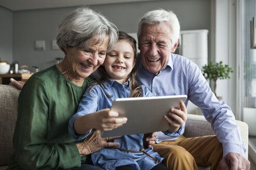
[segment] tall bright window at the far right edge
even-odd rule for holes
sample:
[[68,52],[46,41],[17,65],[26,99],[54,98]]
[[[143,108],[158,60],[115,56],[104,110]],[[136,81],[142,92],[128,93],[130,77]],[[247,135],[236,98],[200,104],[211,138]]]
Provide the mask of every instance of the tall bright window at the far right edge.
[[[249,154],[256,154],[256,49],[250,48],[250,21],[256,17],[256,1],[244,1],[245,12],[242,13],[242,20],[245,22],[244,47],[242,48],[242,59],[244,61],[244,97],[242,118],[249,126]],[[251,153],[250,153],[251,152]],[[254,152],[254,153],[252,153]],[[253,158],[253,157],[251,157]],[[255,157],[254,157],[255,158]],[[255,160],[254,160],[255,161]]]

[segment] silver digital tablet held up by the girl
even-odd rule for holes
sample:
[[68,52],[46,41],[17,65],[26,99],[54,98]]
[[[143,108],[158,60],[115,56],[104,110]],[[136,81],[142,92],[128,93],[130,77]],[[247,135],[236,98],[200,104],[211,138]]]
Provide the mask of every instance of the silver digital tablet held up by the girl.
[[127,122],[111,131],[101,132],[101,137],[123,136],[138,133],[166,131],[169,128],[164,119],[171,108],[180,108],[180,101],[187,95],[117,98],[111,110],[126,117]]

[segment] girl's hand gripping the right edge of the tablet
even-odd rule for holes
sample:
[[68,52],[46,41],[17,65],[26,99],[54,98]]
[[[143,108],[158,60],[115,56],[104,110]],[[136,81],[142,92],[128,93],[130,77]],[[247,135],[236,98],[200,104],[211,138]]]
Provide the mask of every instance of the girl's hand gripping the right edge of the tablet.
[[187,120],[187,109],[185,104],[181,101],[181,110],[171,108],[170,112],[168,112],[164,118],[170,124],[168,131],[170,133],[176,132]]

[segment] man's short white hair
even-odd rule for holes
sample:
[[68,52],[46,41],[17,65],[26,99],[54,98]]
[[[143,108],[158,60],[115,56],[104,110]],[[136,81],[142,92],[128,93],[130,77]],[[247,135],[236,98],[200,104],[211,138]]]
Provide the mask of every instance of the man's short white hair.
[[137,37],[139,41],[140,34],[142,32],[143,24],[155,25],[159,23],[166,22],[171,27],[171,35],[170,38],[172,40],[172,46],[177,43],[178,38],[180,38],[180,23],[178,22],[177,16],[173,11],[166,11],[164,9],[152,10],[140,18],[138,23],[138,32]]

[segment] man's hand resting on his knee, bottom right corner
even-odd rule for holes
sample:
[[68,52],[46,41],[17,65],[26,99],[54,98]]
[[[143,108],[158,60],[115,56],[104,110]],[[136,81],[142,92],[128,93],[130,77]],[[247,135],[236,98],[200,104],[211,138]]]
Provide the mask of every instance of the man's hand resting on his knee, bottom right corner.
[[250,161],[242,157],[239,153],[229,152],[220,163],[223,170],[249,170]]

